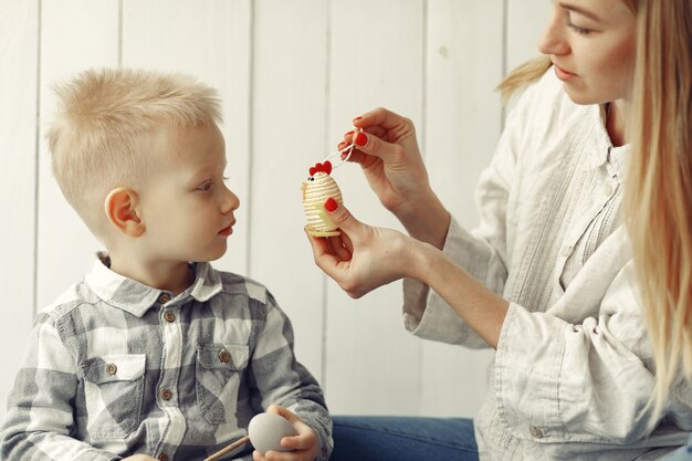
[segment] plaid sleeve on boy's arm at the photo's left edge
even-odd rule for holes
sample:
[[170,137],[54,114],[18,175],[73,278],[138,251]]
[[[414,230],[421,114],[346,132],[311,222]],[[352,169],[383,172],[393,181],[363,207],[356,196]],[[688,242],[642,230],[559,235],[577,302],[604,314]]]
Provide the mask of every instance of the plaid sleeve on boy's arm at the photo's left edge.
[[41,314],[8,398],[8,413],[0,429],[0,459],[119,460],[71,437],[76,387],[74,359],[52,318]]

